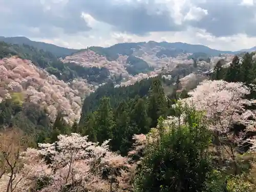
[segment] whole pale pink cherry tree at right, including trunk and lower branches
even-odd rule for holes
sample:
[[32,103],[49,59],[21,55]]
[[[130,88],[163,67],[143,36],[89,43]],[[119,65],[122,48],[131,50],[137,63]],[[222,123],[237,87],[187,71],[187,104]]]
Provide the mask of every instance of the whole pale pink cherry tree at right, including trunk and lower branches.
[[[242,135],[231,134],[232,125],[243,124],[247,130],[254,129],[256,125],[253,120],[255,112],[245,107],[253,102],[245,99],[249,93],[248,87],[241,82],[205,80],[188,93],[189,98],[181,100],[182,103],[195,105],[197,110],[205,111],[210,122],[209,129],[214,132],[217,153],[223,156],[224,152],[221,150],[225,149],[233,162],[236,161],[234,143],[241,143]],[[252,120],[248,117],[252,117]],[[223,160],[223,157],[221,159]]]

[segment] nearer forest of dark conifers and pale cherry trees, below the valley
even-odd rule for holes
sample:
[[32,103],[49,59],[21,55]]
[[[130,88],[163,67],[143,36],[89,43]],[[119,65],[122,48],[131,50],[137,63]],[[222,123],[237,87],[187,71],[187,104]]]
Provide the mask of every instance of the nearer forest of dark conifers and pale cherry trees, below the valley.
[[196,89],[180,90],[177,76],[194,68],[176,69],[172,80],[106,83],[84,99],[72,125],[61,111],[51,122],[19,94],[5,99],[0,191],[255,191],[253,53],[229,67],[219,61]]

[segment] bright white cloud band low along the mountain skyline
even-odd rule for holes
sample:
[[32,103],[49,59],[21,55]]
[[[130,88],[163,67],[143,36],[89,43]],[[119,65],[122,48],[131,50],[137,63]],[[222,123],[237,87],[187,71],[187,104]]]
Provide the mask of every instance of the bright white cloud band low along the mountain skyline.
[[[35,39],[46,41],[46,39]],[[65,35],[59,38],[48,39],[46,42],[69,48],[86,48],[87,46],[109,47],[120,42],[139,42],[139,41],[169,41],[187,42],[189,44],[202,44],[212,49],[237,51],[247,49],[256,45],[256,37],[248,37],[245,34],[233,35],[230,37],[215,37],[205,30],[189,28],[181,32],[151,32],[148,36],[138,36],[134,34],[110,31],[108,34],[102,33],[101,36]]]

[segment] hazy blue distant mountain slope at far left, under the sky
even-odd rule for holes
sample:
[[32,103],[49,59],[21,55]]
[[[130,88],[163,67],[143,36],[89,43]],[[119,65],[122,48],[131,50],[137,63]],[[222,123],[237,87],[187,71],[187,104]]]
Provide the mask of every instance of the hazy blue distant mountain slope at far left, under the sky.
[[63,57],[67,55],[72,55],[77,52],[77,49],[68,49],[53,44],[47,44],[45,42],[32,41],[27,37],[3,37],[0,36],[0,41],[7,42],[8,44],[17,44],[17,45],[29,45],[37,49],[42,49],[44,51],[49,51],[57,57]]

